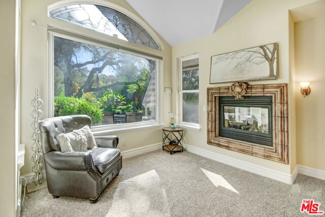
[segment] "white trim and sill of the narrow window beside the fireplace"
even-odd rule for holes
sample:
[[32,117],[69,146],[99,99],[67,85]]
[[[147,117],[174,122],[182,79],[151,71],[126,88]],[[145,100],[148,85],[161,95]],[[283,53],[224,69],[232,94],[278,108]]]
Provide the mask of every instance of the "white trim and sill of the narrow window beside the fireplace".
[[[176,124],[179,127],[182,128],[187,128],[187,129],[191,129],[191,130],[197,130],[199,131],[201,129],[200,127],[200,97],[199,97],[199,123],[191,123],[191,122],[185,122],[183,121],[183,96],[182,94],[184,92],[198,92],[200,93],[200,85],[199,85],[199,89],[198,90],[182,90],[182,84],[183,84],[183,78],[182,78],[182,73],[183,73],[183,61],[186,60],[190,60],[190,59],[196,59],[199,58],[199,53],[196,54],[192,54],[190,56],[186,56],[186,57],[181,57],[179,59],[179,117],[180,117],[180,123]],[[200,59],[200,58],[199,58]],[[200,65],[199,65],[200,67]],[[200,83],[200,71],[199,71],[199,83]]]

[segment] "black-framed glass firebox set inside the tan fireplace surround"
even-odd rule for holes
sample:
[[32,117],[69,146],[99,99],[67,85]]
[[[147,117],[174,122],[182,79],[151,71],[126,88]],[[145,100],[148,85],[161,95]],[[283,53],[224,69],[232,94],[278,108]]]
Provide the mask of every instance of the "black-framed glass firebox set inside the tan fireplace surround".
[[272,97],[219,97],[219,136],[272,146]]

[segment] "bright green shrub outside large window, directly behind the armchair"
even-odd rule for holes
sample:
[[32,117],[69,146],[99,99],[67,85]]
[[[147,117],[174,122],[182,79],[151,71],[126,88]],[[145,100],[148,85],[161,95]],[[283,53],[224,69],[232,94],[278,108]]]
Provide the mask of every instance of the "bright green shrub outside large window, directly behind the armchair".
[[101,109],[100,103],[90,102],[83,98],[62,95],[54,97],[54,116],[73,114],[86,114],[94,125],[99,125],[102,123],[103,109]]

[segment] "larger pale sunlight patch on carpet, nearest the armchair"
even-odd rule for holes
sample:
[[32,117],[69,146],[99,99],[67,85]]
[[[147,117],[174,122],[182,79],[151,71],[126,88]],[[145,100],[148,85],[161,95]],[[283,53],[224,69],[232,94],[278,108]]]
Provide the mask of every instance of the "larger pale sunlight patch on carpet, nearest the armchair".
[[165,189],[155,170],[121,181],[108,216],[170,216]]

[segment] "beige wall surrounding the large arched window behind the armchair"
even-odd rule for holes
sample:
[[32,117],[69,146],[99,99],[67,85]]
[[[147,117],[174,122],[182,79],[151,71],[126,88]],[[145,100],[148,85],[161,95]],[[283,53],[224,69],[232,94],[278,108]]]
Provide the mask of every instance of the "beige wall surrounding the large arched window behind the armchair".
[[[44,101],[42,110],[44,111],[43,118],[48,116],[48,100],[47,100],[47,79],[48,79],[48,60],[47,60],[47,24],[60,25],[69,28],[66,23],[61,23],[58,20],[50,19],[47,17],[47,7],[51,4],[60,4],[64,1],[38,1],[38,0],[24,0],[22,1],[22,59],[21,59],[21,143],[25,143],[25,166],[22,168],[22,174],[31,173],[31,167],[33,163],[30,161],[32,151],[30,146],[32,140],[30,135],[32,133],[30,129],[30,123],[32,118],[30,116],[32,107],[30,101],[35,97],[35,87],[41,89],[40,97]],[[67,2],[67,1],[65,1]],[[72,1],[69,1],[72,2]],[[75,1],[75,2],[89,2],[89,1]],[[164,64],[160,66],[163,75],[160,77],[160,116],[163,122],[168,123],[168,112],[171,110],[171,95],[164,94],[163,87],[171,86],[171,47],[156,34],[153,30],[150,30],[148,24],[140,18],[140,16],[129,7],[125,1],[104,1],[97,0],[93,3],[106,5],[108,7],[115,7],[121,10],[121,12],[127,13],[129,16],[140,22],[144,27],[149,30],[149,33],[153,35],[154,39],[158,41],[159,46],[164,51]],[[131,13],[129,13],[131,12]],[[31,21],[37,23],[37,28],[31,26]],[[73,29],[75,30],[75,29]],[[78,30],[82,34],[89,33],[90,30],[82,29]],[[93,32],[91,32],[93,33]],[[96,34],[96,33],[94,33]],[[107,40],[108,37],[97,34],[103,40]],[[113,41],[116,39],[112,39]],[[140,45],[134,45],[135,47]],[[118,135],[120,140],[125,140],[126,146],[119,146],[121,150],[127,150],[137,148],[141,146],[156,144],[161,142],[161,129],[148,129],[141,131],[125,132],[114,134]]]

